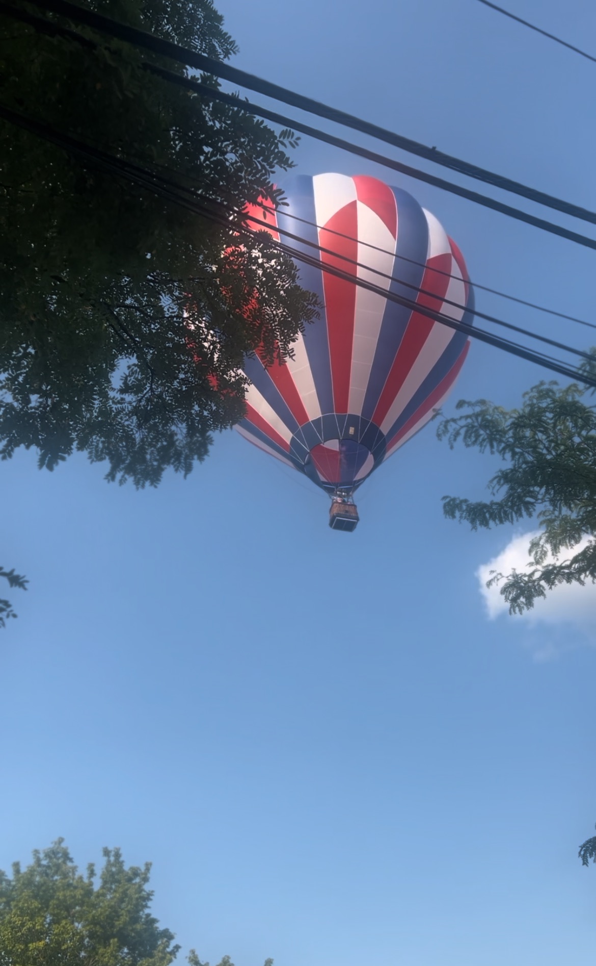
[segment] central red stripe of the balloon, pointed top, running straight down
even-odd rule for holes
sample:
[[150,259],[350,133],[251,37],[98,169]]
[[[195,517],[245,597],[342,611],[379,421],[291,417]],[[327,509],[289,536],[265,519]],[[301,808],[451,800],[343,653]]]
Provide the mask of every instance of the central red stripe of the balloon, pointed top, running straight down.
[[[358,258],[357,202],[351,201],[335,213],[327,224],[319,229],[319,244],[337,252],[321,252],[321,262],[334,269],[356,277],[357,267],[344,259]],[[333,234],[339,232],[339,235]],[[345,236],[345,237],[340,237]],[[336,412],[347,412],[352,370],[352,344],[354,341],[354,316],[356,310],[356,285],[323,271],[325,315],[331,358],[334,407]]]

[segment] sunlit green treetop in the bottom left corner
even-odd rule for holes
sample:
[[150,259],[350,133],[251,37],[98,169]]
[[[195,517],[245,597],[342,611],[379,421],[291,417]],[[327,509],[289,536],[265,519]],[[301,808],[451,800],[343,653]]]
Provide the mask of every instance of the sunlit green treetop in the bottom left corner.
[[[13,877],[0,872],[0,966],[169,966],[180,947],[149,907],[150,863],[125,867],[120,849],[103,849],[83,875],[59,838],[33,853]],[[191,966],[201,963],[188,955]],[[271,966],[267,960],[265,966]],[[233,966],[225,956],[220,966]]]

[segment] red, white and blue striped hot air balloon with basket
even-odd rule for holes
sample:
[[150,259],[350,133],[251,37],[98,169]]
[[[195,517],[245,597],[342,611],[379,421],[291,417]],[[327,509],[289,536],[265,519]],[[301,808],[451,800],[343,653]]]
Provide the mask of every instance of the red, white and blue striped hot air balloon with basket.
[[471,324],[473,290],[457,245],[407,191],[321,174],[284,192],[269,231],[300,236],[287,244],[323,308],[292,359],[266,367],[247,357],[246,416],[235,428],[332,497],[330,526],[353,530],[355,491],[441,407],[468,353],[465,333],[423,311]]

